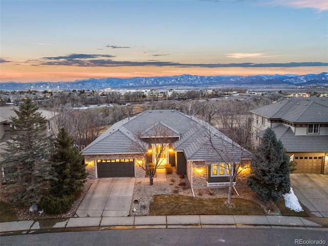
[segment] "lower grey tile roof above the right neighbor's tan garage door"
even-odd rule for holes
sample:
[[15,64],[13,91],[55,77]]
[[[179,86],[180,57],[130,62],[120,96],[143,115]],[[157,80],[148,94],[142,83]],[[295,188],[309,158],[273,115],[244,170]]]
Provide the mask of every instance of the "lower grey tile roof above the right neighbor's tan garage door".
[[[272,128],[287,152],[327,152],[328,135],[294,135],[289,126],[279,125]],[[258,136],[262,137],[264,131]]]

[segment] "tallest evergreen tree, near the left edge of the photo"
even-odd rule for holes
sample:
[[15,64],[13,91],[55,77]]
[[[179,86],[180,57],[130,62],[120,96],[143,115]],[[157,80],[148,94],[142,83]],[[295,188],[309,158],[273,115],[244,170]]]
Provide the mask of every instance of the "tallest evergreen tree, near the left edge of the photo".
[[5,179],[13,180],[9,199],[20,205],[38,203],[51,178],[50,137],[46,136],[45,118],[31,99],[27,99],[12,117],[12,140],[2,154]]

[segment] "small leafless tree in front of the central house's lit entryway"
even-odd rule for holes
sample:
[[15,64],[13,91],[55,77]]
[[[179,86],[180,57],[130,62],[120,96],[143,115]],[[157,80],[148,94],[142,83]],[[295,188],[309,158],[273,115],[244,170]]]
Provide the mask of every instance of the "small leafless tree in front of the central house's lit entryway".
[[[169,146],[176,133],[169,126],[157,122],[144,132],[138,133],[133,139],[133,150],[140,153],[144,160],[138,165],[149,175],[149,184],[153,184],[157,168],[165,162]],[[152,162],[152,158],[153,161]]]

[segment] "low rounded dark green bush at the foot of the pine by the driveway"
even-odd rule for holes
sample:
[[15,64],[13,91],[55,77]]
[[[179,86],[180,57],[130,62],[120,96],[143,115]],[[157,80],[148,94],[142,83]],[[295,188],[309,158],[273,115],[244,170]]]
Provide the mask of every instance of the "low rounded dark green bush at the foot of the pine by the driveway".
[[61,197],[46,195],[42,198],[40,206],[48,214],[63,214],[70,209],[73,203],[73,195]]

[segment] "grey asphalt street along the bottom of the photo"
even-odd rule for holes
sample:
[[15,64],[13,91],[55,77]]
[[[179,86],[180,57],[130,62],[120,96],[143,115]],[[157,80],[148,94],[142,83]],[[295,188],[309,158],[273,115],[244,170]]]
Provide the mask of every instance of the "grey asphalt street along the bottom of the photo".
[[[296,240],[296,241],[295,241]],[[2,236],[2,246],[11,245],[325,245],[326,228],[317,230],[211,228],[211,229],[138,229],[44,233]],[[303,241],[302,241],[303,240]],[[305,244],[306,240],[318,240]],[[321,243],[320,243],[321,240]],[[309,241],[308,241],[309,242]],[[301,244],[301,243],[299,243]]]

